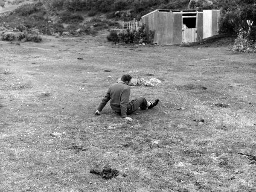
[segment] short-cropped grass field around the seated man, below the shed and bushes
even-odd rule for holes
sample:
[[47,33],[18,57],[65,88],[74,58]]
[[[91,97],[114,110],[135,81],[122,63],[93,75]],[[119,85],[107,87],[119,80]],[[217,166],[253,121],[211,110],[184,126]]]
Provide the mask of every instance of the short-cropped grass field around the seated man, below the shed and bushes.
[[[255,58],[216,43],[114,46],[104,34],[0,41],[0,191],[256,191]],[[125,73],[160,79],[131,87],[131,99],[159,104],[131,122],[109,104],[94,116]],[[90,174],[105,167],[120,175]]]

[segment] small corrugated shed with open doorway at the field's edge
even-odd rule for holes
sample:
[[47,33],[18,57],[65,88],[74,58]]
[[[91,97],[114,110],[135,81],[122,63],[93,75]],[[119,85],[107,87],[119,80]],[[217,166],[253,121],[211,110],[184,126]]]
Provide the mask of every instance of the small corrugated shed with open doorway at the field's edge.
[[219,33],[220,10],[157,9],[142,17],[154,43],[172,45],[196,42]]

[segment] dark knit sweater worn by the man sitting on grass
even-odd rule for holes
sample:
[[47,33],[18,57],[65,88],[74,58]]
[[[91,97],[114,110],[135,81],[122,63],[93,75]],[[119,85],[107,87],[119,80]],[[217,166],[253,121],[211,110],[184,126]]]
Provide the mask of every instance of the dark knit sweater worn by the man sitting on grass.
[[110,106],[113,111],[118,113],[121,112],[122,118],[127,117],[127,105],[130,99],[130,87],[123,81],[118,81],[118,83],[112,84],[108,88],[108,92],[99,104],[98,111],[102,111],[105,105],[110,101]]

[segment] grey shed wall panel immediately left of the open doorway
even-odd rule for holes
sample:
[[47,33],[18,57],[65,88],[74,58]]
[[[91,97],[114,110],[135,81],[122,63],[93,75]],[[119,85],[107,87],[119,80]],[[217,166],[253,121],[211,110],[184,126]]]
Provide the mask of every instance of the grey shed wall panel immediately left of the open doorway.
[[182,14],[173,14],[173,44],[182,43]]

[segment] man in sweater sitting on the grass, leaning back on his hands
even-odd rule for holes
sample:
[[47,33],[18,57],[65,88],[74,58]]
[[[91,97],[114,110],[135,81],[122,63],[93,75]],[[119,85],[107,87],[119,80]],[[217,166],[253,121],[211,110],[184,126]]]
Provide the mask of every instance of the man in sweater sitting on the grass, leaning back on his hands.
[[130,99],[130,87],[128,86],[131,81],[131,76],[129,74],[123,75],[121,80],[115,84],[112,84],[108,88],[108,92],[105,97],[102,99],[102,102],[99,104],[95,115],[100,115],[100,111],[105,107],[105,105],[110,101],[110,106],[113,111],[120,114],[123,119],[131,121],[132,118],[128,117],[138,108],[146,110],[153,108],[157,105],[159,99],[154,99],[152,102],[148,102],[144,97],[139,97],[137,99],[129,102]]

